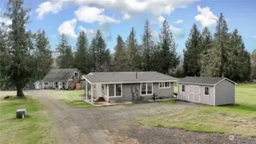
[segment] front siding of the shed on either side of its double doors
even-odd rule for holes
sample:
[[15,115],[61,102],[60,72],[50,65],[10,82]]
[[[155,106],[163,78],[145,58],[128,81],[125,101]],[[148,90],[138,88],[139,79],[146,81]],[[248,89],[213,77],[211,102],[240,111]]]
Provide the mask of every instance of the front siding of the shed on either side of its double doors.
[[[183,84],[178,84],[178,99],[191,101],[189,100],[188,90],[189,90],[189,85],[193,85],[193,84],[184,84],[185,92],[181,92],[181,85]],[[204,95],[204,85],[195,85],[195,86],[199,86],[199,89],[200,89],[199,103],[214,106],[214,86],[208,86],[210,90],[209,96]]]

